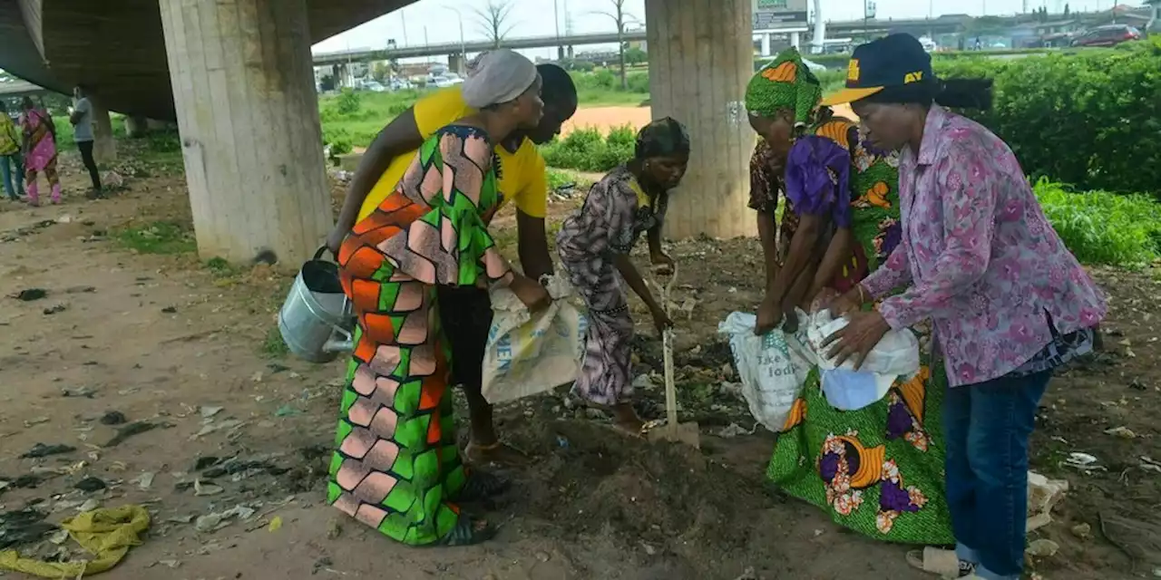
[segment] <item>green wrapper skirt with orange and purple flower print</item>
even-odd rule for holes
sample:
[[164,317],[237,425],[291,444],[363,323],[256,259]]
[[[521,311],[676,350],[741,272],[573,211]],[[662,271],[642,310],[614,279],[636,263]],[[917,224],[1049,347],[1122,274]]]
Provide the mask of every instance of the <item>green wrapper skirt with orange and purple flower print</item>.
[[940,418],[947,382],[942,363],[928,363],[859,411],[831,407],[813,370],[779,434],[767,477],[867,537],[954,544]]

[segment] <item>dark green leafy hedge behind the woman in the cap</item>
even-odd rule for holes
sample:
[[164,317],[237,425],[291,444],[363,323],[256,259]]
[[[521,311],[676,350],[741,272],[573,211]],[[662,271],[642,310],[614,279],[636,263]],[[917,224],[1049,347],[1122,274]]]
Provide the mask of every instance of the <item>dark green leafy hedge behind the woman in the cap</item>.
[[944,78],[995,80],[988,113],[1033,177],[1079,189],[1161,194],[1161,43],[1011,60],[938,60]]

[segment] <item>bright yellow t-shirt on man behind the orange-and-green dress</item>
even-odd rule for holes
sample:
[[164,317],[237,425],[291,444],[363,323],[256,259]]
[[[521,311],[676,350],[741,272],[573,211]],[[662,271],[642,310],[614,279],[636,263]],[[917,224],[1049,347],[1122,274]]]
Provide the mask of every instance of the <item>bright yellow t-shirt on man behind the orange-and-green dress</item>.
[[[424,139],[431,137],[440,128],[475,113],[463,102],[460,87],[448,87],[432,93],[414,106],[416,125]],[[525,139],[515,153],[510,153],[497,144],[496,153],[500,160],[499,195],[500,204],[511,200],[520,211],[528,216],[543,218],[548,213],[548,177],[547,166],[531,140]],[[414,160],[416,152],[395,158],[383,172],[375,187],[367,194],[367,200],[359,210],[359,219],[369,216],[395,186],[403,179],[408,167]]]

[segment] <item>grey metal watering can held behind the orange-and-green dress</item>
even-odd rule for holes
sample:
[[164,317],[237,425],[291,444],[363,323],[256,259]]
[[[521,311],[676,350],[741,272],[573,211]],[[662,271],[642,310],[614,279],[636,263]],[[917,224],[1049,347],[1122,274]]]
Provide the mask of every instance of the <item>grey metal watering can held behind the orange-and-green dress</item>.
[[349,351],[354,328],[339,267],[323,260],[325,251],[318,248],[315,259],[302,264],[279,311],[279,332],[290,353],[315,363],[327,363]]

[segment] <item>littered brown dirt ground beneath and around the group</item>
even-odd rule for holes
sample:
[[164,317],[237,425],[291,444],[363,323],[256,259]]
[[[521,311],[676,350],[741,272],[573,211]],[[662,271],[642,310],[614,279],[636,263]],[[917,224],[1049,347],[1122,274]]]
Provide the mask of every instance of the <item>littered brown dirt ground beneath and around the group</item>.
[[[161,242],[188,239],[180,175],[122,167],[138,176],[87,202],[78,165],[65,158],[63,205],[0,202],[0,548],[75,558],[74,544],[52,541],[56,524],[94,505],[138,503],[152,527],[100,578],[929,578],[908,568],[904,546],[845,531],[765,483],[773,436],[745,433],[753,421],[716,335],[728,312],[759,300],[755,240],[669,247],[686,282],[676,302],[692,305],[679,317],[677,369],[700,451],[626,440],[562,392],[518,401],[499,409],[500,429],[533,463],[504,472],[515,484],[504,498],[467,507],[499,524],[498,537],[405,549],[323,501],[344,364],[295,361],[271,339],[293,271],[135,252],[139,237],[127,245],[123,232],[171,249]],[[579,201],[567,197],[553,202],[554,222]],[[502,246],[513,246],[511,223],[496,223]],[[1145,459],[1161,457],[1158,282],[1096,274],[1112,292],[1109,351],[1053,383],[1033,441],[1036,469],[1073,486],[1037,534],[1061,546],[1033,563],[1046,579],[1147,578],[1161,566],[1161,473]],[[646,324],[636,358],[636,372],[661,371]],[[647,418],[662,414],[659,389],[639,394]],[[21,457],[37,444],[72,449]],[[1074,451],[1101,469],[1062,466]],[[226,510],[236,515],[221,524],[205,517]]]

